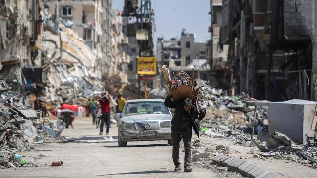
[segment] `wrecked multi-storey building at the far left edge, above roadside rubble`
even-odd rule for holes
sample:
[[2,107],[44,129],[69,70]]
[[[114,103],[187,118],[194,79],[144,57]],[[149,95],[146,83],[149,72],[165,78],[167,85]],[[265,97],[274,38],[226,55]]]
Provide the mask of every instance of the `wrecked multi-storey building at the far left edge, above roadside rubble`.
[[[23,71],[42,72],[43,0],[0,0],[0,78],[12,90],[24,92],[28,80]],[[37,66],[37,67],[36,67]]]

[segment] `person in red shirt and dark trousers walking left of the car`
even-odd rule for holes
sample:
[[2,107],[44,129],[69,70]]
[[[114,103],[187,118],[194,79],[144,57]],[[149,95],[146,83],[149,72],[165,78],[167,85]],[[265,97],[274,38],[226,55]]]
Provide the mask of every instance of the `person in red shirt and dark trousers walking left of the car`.
[[100,108],[101,108],[101,123],[100,123],[100,132],[99,135],[103,135],[104,123],[107,126],[106,135],[109,134],[110,127],[110,95],[106,93],[101,99],[99,99]]

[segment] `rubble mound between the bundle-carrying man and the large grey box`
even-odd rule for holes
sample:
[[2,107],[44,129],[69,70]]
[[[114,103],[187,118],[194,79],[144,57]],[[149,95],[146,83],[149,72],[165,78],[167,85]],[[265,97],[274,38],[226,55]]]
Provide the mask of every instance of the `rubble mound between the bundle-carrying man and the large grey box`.
[[[197,86],[206,86],[203,80],[197,79]],[[246,101],[256,101],[248,94],[228,96],[227,91],[215,88],[205,88],[200,93],[204,107],[208,108],[202,121],[202,133],[220,138],[238,139],[240,143],[247,140],[252,130],[254,108],[246,107]],[[268,110],[265,107],[256,111],[257,134],[267,133]]]

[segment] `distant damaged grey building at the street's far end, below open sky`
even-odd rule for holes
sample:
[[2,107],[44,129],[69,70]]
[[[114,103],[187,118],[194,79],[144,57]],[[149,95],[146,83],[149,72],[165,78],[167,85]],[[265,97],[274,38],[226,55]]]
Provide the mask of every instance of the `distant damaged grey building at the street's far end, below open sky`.
[[197,78],[210,80],[206,43],[195,42],[194,34],[188,34],[183,29],[180,39],[158,38],[156,48],[158,64],[168,66],[171,76],[178,71],[191,74],[194,69]]

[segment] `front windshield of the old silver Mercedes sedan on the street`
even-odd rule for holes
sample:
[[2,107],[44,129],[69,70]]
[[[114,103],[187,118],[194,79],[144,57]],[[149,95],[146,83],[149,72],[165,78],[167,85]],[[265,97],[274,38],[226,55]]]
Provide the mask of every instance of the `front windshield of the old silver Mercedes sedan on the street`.
[[136,114],[169,114],[169,109],[164,102],[128,102],[124,115]]

